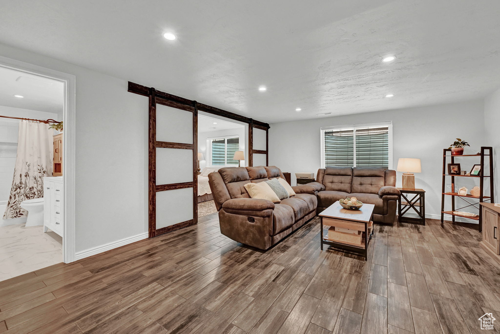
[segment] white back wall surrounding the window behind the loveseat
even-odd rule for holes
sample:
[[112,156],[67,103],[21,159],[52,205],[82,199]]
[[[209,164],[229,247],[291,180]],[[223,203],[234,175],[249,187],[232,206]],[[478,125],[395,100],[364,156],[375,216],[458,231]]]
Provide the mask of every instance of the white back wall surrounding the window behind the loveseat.
[[[320,127],[390,120],[393,168],[400,157],[421,159],[422,172],[415,173],[415,186],[426,191],[426,213],[438,215],[441,210],[442,149],[459,137],[471,145],[465,152],[479,150],[485,143],[483,107],[483,101],[476,100],[270,124],[269,164],[291,172],[292,184],[295,184],[295,172],[316,173],[320,168]],[[473,163],[478,163],[466,159],[456,160],[462,169],[470,169]],[[474,185],[471,179],[462,177],[460,184],[470,189]],[[400,172],[397,172],[396,186],[401,186]]]

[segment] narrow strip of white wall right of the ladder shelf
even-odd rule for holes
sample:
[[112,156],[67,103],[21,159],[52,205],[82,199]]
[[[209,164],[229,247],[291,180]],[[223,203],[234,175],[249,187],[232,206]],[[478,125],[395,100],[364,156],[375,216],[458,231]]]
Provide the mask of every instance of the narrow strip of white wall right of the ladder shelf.
[[494,199],[498,203],[500,198],[500,182],[498,182],[498,163],[500,163],[500,89],[495,90],[484,98],[484,129],[486,145],[493,146],[493,173],[495,178]]

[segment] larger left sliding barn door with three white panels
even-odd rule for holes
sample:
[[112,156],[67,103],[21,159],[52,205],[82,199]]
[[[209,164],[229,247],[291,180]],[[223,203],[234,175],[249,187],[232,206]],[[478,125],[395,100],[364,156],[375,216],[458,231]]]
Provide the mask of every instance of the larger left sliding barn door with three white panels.
[[149,237],[197,222],[197,108],[149,95]]

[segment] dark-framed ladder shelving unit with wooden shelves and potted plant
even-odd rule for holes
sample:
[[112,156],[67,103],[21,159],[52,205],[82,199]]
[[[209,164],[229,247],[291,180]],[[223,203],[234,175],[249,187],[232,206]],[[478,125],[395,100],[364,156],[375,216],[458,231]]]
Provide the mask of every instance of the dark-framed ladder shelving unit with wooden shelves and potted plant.
[[[451,155],[451,149],[445,148],[443,149],[442,152],[442,194],[441,194],[441,222],[444,220],[444,215],[449,214],[451,215],[451,220],[454,222],[455,221],[455,216],[462,217],[462,218],[467,218],[471,220],[478,220],[479,221],[479,232],[482,231],[482,216],[481,216],[481,209],[479,207],[479,203],[484,202],[485,200],[488,200],[489,202],[493,203],[493,188],[494,188],[494,183],[493,183],[493,148],[490,146],[482,146],[481,147],[481,152],[479,154],[463,154],[463,155]],[[448,158],[449,158],[449,163],[455,163],[455,158],[456,157],[464,157],[464,156],[472,156],[472,157],[479,157],[480,162],[479,164],[481,165],[481,172],[479,175],[451,175],[447,174],[447,163],[448,163]],[[487,164],[485,161],[485,158],[488,159]],[[471,161],[472,164],[474,161]],[[488,168],[485,169],[484,167],[487,166]],[[459,195],[456,192],[453,192],[454,189],[452,189],[452,192],[447,192],[445,191],[446,187],[446,177],[451,177],[451,184],[454,186],[455,184],[455,177],[476,177],[479,179],[479,188],[481,190],[479,196],[473,196],[471,194],[466,194],[466,195]],[[486,180],[486,183],[484,182]],[[484,185],[487,184],[487,181],[489,180],[489,193],[487,193],[487,196],[484,194]],[[444,208],[444,199],[446,196],[451,196],[451,210],[445,210]],[[462,199],[465,201],[468,205],[455,208],[456,203],[455,203],[455,198]],[[478,202],[470,202],[465,198],[473,198],[473,199],[478,199]],[[466,217],[462,216],[459,214],[454,214],[453,211],[458,211],[460,209],[463,209],[468,206],[473,206],[477,209],[479,209],[479,215],[475,217]]]

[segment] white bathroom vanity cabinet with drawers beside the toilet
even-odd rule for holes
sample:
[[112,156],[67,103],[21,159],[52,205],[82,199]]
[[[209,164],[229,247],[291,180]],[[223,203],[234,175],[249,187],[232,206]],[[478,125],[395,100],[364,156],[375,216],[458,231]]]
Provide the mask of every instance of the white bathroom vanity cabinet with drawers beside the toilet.
[[43,231],[51,229],[62,236],[64,208],[62,176],[43,178]]

